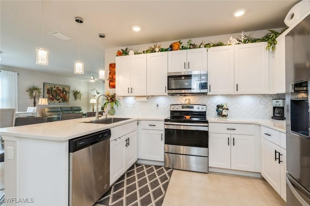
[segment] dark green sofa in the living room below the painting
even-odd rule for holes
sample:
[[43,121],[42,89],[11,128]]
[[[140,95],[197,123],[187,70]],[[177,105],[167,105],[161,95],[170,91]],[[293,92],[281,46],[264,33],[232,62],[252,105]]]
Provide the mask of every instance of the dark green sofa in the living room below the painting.
[[43,109],[43,114],[47,121],[60,121],[62,114],[82,114],[83,118],[86,117],[80,106],[47,107]]

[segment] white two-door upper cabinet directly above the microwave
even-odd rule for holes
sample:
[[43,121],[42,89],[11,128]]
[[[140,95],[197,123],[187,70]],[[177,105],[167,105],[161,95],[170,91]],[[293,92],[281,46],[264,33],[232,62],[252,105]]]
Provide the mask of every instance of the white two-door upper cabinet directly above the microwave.
[[168,52],[168,72],[207,70],[207,49],[187,49]]

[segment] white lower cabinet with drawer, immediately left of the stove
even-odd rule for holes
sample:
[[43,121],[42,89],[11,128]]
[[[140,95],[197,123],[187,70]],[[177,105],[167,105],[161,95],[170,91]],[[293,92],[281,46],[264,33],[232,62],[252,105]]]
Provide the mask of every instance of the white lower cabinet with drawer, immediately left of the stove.
[[164,162],[164,122],[141,120],[139,159]]

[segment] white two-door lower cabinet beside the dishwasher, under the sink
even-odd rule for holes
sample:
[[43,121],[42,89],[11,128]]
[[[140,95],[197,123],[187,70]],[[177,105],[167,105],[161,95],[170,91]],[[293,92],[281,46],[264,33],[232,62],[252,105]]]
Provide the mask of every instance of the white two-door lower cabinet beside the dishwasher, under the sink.
[[137,122],[111,128],[110,186],[137,161],[137,153]]

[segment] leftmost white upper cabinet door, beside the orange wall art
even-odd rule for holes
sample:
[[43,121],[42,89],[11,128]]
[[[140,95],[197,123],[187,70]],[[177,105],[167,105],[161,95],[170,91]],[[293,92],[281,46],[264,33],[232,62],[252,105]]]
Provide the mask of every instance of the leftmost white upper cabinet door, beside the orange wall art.
[[116,57],[116,85],[118,96],[130,96],[130,56]]

